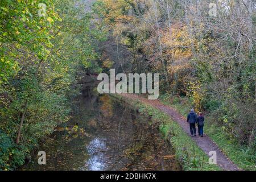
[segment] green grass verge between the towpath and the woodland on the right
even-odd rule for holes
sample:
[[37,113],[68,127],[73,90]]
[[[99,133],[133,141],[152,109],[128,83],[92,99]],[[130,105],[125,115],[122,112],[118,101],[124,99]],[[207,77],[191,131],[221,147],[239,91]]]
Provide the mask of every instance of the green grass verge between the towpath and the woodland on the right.
[[[171,99],[171,96],[162,95],[160,101],[164,105],[175,108],[184,117],[192,107],[187,98]],[[218,145],[226,156],[239,168],[244,170],[256,170],[256,154],[255,150],[250,147],[241,146],[237,142],[232,142],[221,126],[209,123],[209,117],[205,117],[204,132]]]

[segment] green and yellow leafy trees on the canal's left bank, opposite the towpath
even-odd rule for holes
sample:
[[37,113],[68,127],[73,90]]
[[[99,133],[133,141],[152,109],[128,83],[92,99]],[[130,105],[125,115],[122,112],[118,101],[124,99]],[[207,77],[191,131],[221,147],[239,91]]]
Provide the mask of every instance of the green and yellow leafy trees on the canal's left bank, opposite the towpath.
[[0,169],[24,164],[69,120],[76,80],[101,72],[94,48],[105,34],[85,10],[76,0],[0,1]]

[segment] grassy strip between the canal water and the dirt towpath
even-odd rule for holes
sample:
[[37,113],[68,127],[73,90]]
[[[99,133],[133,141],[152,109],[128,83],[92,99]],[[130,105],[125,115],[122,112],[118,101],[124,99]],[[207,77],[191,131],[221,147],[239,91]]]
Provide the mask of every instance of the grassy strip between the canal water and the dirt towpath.
[[174,147],[176,159],[185,171],[221,171],[222,169],[216,165],[209,164],[209,156],[195,141],[193,141],[179,126],[163,111],[144,104],[139,100],[131,100],[121,94],[110,94],[112,98],[116,98],[121,102],[133,106],[139,113],[150,115],[153,122],[159,122],[159,131],[163,137]]

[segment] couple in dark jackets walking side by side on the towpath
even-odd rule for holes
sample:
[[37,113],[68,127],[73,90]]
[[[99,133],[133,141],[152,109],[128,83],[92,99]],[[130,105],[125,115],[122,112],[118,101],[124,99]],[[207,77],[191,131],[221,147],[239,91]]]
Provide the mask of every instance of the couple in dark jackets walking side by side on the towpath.
[[189,123],[192,137],[196,137],[196,124],[199,136],[204,137],[204,116],[202,113],[199,113],[199,117],[197,117],[195,110],[191,109],[187,117],[187,122]]

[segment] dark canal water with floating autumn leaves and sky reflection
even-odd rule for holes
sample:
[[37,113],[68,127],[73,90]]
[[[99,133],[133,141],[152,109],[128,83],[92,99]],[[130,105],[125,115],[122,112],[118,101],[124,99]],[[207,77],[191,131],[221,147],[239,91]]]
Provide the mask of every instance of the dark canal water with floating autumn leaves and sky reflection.
[[38,148],[46,152],[22,170],[180,170],[158,124],[92,84],[73,103],[72,118]]

